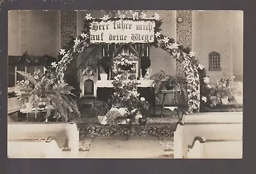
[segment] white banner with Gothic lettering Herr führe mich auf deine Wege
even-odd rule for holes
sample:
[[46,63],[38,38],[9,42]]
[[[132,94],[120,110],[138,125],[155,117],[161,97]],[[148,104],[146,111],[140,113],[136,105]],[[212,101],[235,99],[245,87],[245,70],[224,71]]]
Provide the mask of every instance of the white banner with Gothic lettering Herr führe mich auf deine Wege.
[[93,21],[90,24],[91,43],[150,43],[154,42],[154,20]]

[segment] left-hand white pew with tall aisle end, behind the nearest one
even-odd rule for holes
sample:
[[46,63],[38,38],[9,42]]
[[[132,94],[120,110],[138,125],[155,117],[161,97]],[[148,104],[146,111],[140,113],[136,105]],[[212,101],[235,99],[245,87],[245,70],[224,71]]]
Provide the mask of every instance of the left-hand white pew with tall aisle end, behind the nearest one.
[[8,123],[8,141],[17,139],[45,139],[55,137],[61,149],[69,149],[76,155],[79,151],[79,129],[76,123],[12,122]]

